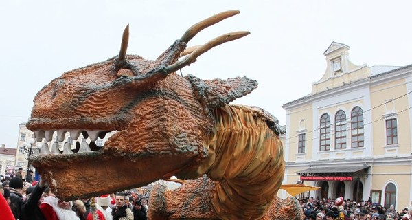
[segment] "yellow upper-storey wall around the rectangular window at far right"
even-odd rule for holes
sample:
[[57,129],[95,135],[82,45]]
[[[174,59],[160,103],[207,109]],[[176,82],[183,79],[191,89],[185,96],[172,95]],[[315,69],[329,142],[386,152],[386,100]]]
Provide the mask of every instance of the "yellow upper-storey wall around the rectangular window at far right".
[[[391,113],[398,113],[404,109],[409,108],[409,102],[407,96],[398,98],[407,94],[407,87],[404,79],[396,80],[393,82],[385,83],[384,85],[378,85],[371,88],[371,106],[376,107],[383,104],[380,107],[372,110],[373,125],[373,137],[374,137],[374,155],[383,155],[385,153],[386,144],[386,124],[385,115]],[[394,98],[398,98],[393,100]],[[389,100],[393,100],[392,103],[387,103]],[[393,118],[393,117],[392,117]],[[398,118],[398,145],[400,154],[407,154],[411,151],[411,143],[409,142],[409,113],[408,111],[400,112],[396,115]],[[370,126],[370,125],[369,125]],[[367,129],[365,127],[365,129]]]

